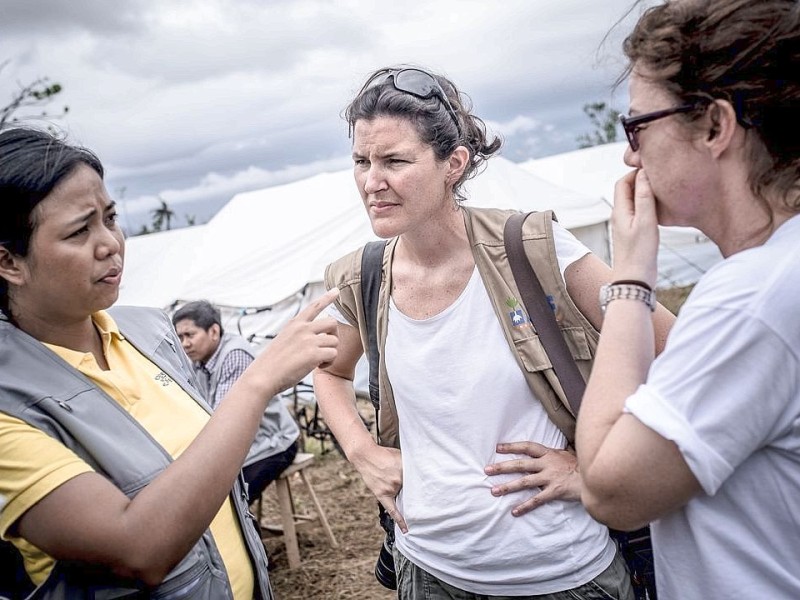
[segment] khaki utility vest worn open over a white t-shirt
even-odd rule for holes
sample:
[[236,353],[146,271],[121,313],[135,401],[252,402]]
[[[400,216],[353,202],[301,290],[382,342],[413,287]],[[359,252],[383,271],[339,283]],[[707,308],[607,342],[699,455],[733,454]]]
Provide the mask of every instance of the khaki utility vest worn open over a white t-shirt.
[[[575,415],[569,408],[564,390],[539,340],[535,324],[530,323],[522,307],[521,296],[508,264],[503,244],[503,227],[514,211],[469,207],[462,207],[461,210],[475,264],[491,298],[506,341],[531,391],[541,401],[550,419],[564,433],[570,445],[574,445]],[[555,215],[552,211],[530,215],[525,220],[522,232],[523,245],[528,260],[548,296],[548,301],[554,307],[556,320],[567,346],[584,379],[587,379],[600,334],[578,310],[567,293],[556,258],[553,219]],[[377,316],[380,350],[378,383],[381,390],[378,411],[379,441],[382,445],[391,447],[399,447],[400,442],[397,409],[386,373],[384,348],[388,326],[389,294],[392,289],[392,257],[396,244],[397,238],[393,238],[389,240],[384,250]],[[334,286],[339,288],[337,308],[350,324],[358,328],[361,344],[364,348],[368,348],[364,307],[361,302],[362,252],[363,248],[360,248],[328,265],[325,270],[325,286],[328,289]],[[490,402],[490,399],[487,399],[487,402]]]

